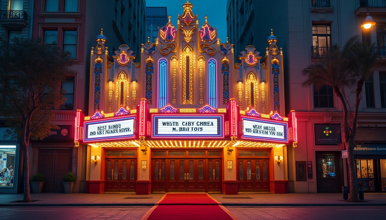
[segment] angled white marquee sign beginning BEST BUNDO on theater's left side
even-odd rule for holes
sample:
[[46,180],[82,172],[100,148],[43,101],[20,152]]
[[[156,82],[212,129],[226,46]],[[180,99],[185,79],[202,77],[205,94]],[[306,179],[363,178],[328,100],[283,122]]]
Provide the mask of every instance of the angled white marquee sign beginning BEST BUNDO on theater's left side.
[[111,141],[134,137],[135,116],[126,116],[116,119],[102,119],[85,122],[85,142]]

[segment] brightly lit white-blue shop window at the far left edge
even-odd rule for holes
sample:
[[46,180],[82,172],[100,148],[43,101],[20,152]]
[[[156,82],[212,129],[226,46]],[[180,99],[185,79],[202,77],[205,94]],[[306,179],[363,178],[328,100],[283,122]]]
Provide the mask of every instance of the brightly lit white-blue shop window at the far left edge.
[[15,145],[0,145],[0,187],[14,186]]

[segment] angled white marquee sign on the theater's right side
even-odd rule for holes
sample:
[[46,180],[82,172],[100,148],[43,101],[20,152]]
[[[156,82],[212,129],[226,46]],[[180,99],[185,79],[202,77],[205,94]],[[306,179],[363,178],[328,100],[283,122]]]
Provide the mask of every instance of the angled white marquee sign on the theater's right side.
[[288,142],[287,123],[264,119],[241,118],[242,138]]

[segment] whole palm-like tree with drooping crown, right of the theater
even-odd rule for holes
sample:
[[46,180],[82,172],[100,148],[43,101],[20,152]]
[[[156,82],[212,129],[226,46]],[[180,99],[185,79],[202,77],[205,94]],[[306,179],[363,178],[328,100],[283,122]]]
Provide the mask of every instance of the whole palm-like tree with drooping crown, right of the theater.
[[[331,86],[339,97],[343,107],[341,130],[347,148],[347,163],[350,176],[350,202],[359,202],[358,183],[354,160],[355,135],[357,132],[358,109],[362,99],[362,87],[367,77],[372,75],[373,67],[379,59],[379,51],[383,45],[367,44],[359,36],[351,37],[341,48],[334,44],[324,59],[315,62],[302,70],[306,77],[303,87]],[[355,98],[355,102],[352,98]],[[350,101],[350,98],[352,101]]]

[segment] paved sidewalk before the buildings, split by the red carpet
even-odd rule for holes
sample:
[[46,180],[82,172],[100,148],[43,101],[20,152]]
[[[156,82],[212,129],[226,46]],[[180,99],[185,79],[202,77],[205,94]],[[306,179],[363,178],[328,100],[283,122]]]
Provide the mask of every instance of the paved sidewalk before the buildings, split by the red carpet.
[[[386,205],[386,193],[365,193],[359,203],[347,202],[342,193],[239,193],[224,195],[209,193],[224,206],[352,206]],[[10,206],[154,206],[164,193],[135,195],[135,193],[37,193],[31,194],[30,203],[15,202],[23,194],[0,194],[0,207]]]

